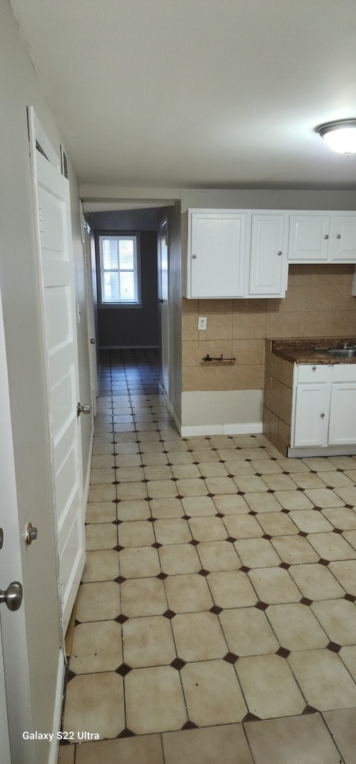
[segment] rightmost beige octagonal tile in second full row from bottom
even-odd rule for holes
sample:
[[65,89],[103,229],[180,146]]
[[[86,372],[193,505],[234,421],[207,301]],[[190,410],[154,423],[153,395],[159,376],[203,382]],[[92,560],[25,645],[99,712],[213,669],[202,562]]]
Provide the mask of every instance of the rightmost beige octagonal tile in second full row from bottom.
[[356,607],[348,600],[324,600],[311,606],[332,642],[353,645],[356,641]]

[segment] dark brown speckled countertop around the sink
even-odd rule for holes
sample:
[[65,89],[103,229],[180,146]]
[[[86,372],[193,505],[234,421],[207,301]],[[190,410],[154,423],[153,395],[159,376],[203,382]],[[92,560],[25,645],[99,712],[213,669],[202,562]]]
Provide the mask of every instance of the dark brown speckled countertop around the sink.
[[356,356],[335,356],[322,349],[344,348],[345,343],[352,348],[356,338],[277,339],[272,342],[272,352],[292,364],[356,364]]

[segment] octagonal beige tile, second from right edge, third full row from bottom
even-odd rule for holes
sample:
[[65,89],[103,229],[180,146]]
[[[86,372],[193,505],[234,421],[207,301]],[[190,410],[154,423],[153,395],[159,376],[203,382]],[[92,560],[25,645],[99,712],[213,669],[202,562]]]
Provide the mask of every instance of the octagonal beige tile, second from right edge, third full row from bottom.
[[289,572],[303,597],[309,600],[344,597],[345,591],[325,565],[292,565]]

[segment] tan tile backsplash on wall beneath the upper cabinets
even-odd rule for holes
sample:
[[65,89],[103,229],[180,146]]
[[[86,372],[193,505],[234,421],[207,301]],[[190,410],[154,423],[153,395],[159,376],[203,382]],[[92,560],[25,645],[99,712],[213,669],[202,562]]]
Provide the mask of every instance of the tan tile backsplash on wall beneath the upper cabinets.
[[290,265],[283,299],[183,299],[183,390],[262,390],[266,338],[354,336],[353,276],[354,265]]

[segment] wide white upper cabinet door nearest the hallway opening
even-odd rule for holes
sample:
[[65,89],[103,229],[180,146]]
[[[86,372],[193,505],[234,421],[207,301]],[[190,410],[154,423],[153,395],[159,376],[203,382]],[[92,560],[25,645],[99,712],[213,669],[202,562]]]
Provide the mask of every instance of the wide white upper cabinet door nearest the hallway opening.
[[244,213],[190,214],[190,297],[243,295],[245,221]]

